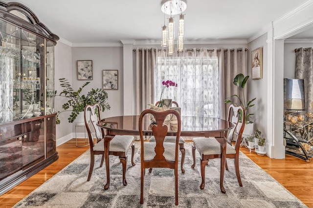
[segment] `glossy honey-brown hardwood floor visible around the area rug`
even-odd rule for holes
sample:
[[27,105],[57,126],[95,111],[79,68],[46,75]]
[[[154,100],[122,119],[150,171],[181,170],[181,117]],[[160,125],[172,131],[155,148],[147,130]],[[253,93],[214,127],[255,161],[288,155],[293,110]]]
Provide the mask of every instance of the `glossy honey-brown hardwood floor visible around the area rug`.
[[[87,147],[76,147],[75,139],[57,147],[59,159],[50,166],[33,175],[20,185],[0,196],[0,208],[11,208],[31,191],[45,183],[50,177],[62,170],[83,152]],[[243,151],[262,169],[268,172],[274,179],[281,183],[293,195],[299,198],[308,207],[313,208],[313,161],[305,162],[297,157],[286,155],[283,160],[271,159],[267,156],[259,156],[255,152]],[[245,186],[245,185],[244,185]]]

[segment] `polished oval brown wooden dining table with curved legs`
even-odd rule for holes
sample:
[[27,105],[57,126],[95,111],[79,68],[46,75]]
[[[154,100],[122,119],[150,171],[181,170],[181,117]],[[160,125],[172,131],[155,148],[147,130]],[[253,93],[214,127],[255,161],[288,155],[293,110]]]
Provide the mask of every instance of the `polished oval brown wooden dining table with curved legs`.
[[[104,189],[110,187],[110,161],[109,146],[110,141],[115,135],[137,135],[139,136],[139,116],[140,115],[122,115],[107,117],[98,121],[97,126],[105,131],[104,136],[104,156],[107,173],[107,183]],[[234,128],[234,125],[227,120],[209,116],[186,115],[181,116],[181,132],[182,137],[215,137],[221,144],[221,171],[220,171],[220,188],[223,193],[224,189],[224,170],[226,161],[226,135],[227,132]],[[145,115],[143,119],[143,135],[151,136],[151,117]],[[175,132],[169,131],[167,135],[175,135]]]

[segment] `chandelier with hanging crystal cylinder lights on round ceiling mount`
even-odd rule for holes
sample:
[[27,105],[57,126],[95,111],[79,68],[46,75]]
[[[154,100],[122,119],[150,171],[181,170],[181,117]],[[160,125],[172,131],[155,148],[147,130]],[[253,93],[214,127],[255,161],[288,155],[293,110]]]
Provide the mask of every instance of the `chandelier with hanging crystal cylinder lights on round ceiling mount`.
[[[162,0],[161,10],[164,13],[164,26],[162,27],[161,46],[168,47],[167,53],[174,54],[175,21],[173,16],[179,15],[179,29],[177,37],[177,50],[184,49],[184,16],[183,11],[187,8],[186,0]],[[168,26],[165,26],[165,15],[170,15]]]

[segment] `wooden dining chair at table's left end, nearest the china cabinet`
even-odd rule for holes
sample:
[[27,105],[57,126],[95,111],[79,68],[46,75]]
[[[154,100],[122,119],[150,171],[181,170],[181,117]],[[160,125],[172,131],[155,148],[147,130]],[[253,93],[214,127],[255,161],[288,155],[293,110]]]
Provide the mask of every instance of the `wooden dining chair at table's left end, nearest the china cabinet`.
[[[88,119],[88,111],[90,111],[90,119]],[[84,118],[85,118],[85,126],[88,132],[89,137],[89,144],[90,144],[90,169],[89,169],[89,175],[87,181],[90,181],[91,174],[93,171],[94,166],[94,155],[101,154],[102,159],[100,163],[100,167],[102,167],[104,162],[104,136],[105,132],[101,128],[101,133],[99,131],[98,126],[96,125],[99,120],[101,120],[101,113],[100,113],[100,106],[98,103],[94,105],[87,105],[84,110]],[[90,120],[88,122],[88,120]],[[91,124],[90,124],[91,123]],[[97,138],[96,143],[94,144],[93,135],[91,132],[91,127],[93,127],[93,130],[95,131],[95,135]],[[110,147],[109,147],[109,155],[115,155],[118,156],[123,168],[123,185],[127,185],[126,181],[126,165],[127,165],[127,152],[128,150],[132,148],[132,165],[134,166],[134,136],[130,135],[116,135],[114,138],[110,141]]]

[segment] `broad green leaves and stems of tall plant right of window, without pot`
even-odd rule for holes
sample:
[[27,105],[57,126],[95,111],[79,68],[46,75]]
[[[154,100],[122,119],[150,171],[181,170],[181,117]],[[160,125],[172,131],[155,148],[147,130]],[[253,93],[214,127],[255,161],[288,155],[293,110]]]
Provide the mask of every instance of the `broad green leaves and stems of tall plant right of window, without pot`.
[[256,97],[255,97],[249,101],[246,101],[244,89],[246,86],[246,82],[248,81],[248,78],[249,78],[249,76],[244,76],[243,74],[238,74],[237,76],[235,76],[233,84],[237,87],[238,94],[237,95],[236,94],[231,95],[225,99],[225,103],[232,103],[236,106],[242,106],[245,109],[246,118],[242,118],[242,115],[240,114],[240,116],[241,116],[240,122],[242,122],[244,119],[246,124],[253,123],[252,121],[248,121],[248,118],[251,117],[251,115],[254,115],[254,113],[248,113],[248,110],[249,110],[249,108],[254,106],[254,104],[252,104],[252,102],[256,99]]

